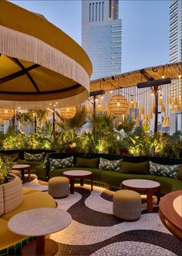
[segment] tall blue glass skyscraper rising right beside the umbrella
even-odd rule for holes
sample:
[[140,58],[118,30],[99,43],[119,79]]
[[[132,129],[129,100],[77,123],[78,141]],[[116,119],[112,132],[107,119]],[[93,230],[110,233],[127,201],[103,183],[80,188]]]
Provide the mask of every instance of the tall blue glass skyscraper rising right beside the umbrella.
[[118,0],[82,1],[82,46],[93,63],[92,80],[121,73],[122,25]]

